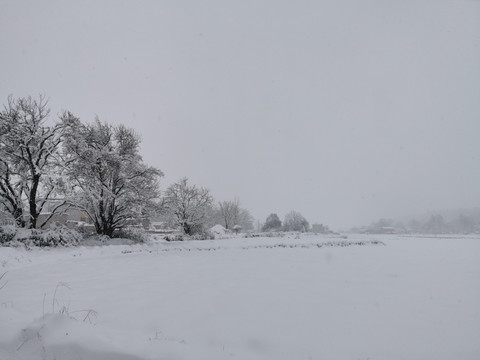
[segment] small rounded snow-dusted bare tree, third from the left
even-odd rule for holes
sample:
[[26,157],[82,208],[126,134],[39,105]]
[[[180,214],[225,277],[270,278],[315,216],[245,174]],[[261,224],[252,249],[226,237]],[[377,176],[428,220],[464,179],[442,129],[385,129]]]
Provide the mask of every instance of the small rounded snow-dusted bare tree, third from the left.
[[212,203],[213,198],[210,191],[195,185],[188,185],[187,178],[170,185],[165,192],[167,211],[187,235],[202,231]]

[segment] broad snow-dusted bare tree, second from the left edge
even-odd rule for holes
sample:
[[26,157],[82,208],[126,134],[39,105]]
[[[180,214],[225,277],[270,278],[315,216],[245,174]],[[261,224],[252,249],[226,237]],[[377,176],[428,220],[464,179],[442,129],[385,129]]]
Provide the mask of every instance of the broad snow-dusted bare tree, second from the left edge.
[[116,229],[149,217],[158,206],[163,173],[143,163],[133,129],[99,119],[82,124],[71,113],[62,120],[65,169],[72,184],[69,203],[88,214],[98,234],[110,237]]

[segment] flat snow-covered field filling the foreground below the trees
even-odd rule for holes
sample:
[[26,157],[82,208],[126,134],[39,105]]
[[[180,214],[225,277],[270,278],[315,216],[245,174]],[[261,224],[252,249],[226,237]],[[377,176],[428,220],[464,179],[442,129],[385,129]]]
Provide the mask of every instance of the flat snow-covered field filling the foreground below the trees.
[[480,359],[480,236],[0,248],[5,272],[2,360]]

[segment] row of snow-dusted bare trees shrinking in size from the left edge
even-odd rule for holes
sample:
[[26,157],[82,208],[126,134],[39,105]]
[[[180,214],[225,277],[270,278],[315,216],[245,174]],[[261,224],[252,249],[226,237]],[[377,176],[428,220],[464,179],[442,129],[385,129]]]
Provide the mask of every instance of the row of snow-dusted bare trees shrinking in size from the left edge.
[[253,228],[253,217],[238,200],[215,205],[208,189],[187,178],[162,196],[163,173],[146,165],[139,150],[133,129],[98,118],[83,123],[70,112],[53,122],[45,97],[10,96],[0,111],[0,215],[34,229],[75,208],[98,234],[110,237],[158,214],[189,235],[216,223]]

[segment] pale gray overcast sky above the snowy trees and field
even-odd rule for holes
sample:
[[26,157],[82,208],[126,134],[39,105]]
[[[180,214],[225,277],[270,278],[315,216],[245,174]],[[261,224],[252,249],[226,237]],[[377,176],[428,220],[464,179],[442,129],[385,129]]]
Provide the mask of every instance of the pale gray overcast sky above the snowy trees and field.
[[162,187],[333,228],[480,205],[478,1],[0,0],[0,99],[123,123]]

